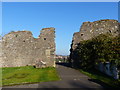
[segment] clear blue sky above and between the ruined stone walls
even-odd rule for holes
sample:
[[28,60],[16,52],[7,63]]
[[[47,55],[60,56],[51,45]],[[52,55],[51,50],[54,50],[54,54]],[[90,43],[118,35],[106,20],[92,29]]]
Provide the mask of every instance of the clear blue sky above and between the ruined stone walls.
[[46,27],[56,28],[56,54],[69,55],[74,32],[86,21],[118,20],[117,2],[3,2],[3,34],[29,30],[38,37]]

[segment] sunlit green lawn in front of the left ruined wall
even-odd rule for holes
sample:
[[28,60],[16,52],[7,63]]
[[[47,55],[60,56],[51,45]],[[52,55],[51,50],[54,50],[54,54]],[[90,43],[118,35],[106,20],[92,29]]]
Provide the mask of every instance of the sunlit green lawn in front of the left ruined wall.
[[32,66],[2,68],[2,85],[47,82],[60,80],[53,67],[36,69]]

